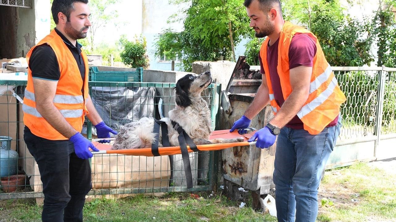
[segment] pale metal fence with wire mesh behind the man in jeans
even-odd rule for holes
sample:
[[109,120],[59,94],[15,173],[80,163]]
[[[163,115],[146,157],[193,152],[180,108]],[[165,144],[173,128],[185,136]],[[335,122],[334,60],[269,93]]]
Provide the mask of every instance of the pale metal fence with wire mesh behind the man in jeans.
[[326,168],[395,157],[396,68],[332,69],[346,102],[341,106],[343,129]]

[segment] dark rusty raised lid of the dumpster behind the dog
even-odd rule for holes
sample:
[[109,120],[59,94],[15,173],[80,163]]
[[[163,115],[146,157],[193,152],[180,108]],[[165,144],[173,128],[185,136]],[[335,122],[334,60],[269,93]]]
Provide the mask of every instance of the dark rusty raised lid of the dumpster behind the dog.
[[261,85],[260,66],[249,66],[246,56],[239,56],[226,88],[230,99],[251,102]]

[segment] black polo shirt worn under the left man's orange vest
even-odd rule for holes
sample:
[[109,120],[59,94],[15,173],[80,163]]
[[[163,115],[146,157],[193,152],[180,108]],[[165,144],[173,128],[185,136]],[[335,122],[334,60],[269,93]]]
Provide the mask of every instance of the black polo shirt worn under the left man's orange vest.
[[[81,56],[82,45],[76,42],[76,46],[74,46],[56,28],[55,32],[61,36],[63,42],[65,42],[70,52],[72,52],[74,58],[76,59],[78,69],[80,70],[81,77],[84,80],[85,64]],[[59,64],[55,56],[55,52],[47,44],[38,45],[36,48],[34,48],[32,55],[30,55],[29,68],[32,70],[32,77],[35,78],[58,81],[61,77],[61,71],[59,70]]]

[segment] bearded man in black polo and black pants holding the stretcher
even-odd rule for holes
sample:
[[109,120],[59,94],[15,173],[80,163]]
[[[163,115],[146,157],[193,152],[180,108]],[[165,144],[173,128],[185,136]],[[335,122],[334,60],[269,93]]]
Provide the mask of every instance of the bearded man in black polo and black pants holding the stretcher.
[[88,0],[54,0],[51,11],[56,28],[26,56],[24,139],[43,184],[42,221],[82,222],[92,188],[89,148],[98,151],[80,133],[85,116],[99,138],[117,132],[103,122],[88,94],[88,59],[77,42],[91,26]]

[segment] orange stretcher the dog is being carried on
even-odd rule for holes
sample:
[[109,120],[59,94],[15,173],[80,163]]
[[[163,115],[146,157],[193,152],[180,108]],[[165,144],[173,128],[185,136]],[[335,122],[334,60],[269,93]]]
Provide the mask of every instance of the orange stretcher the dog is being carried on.
[[[216,130],[211,133],[211,135],[209,136],[209,139],[217,139],[217,138],[232,139],[232,138],[237,138],[237,137],[244,137],[244,141],[237,142],[237,143],[216,143],[216,144],[197,145],[197,148],[200,151],[214,151],[214,150],[227,149],[230,147],[254,145],[254,144],[256,144],[256,141],[247,142],[247,140],[250,137],[252,137],[255,132],[256,131],[249,132],[244,135],[240,135],[240,134],[238,134],[237,130],[235,130],[234,132],[230,132],[230,130]],[[92,139],[93,145],[95,145],[95,147],[97,149],[99,149],[98,152],[92,151],[92,154],[111,154],[111,153],[113,153],[113,154],[124,154],[124,155],[132,155],[132,156],[154,156],[152,154],[151,148],[112,150],[111,145],[98,142],[103,139],[112,140],[114,138]],[[187,145],[187,150],[188,150],[188,152],[194,152],[190,149],[190,146],[188,146],[188,145]],[[175,155],[175,154],[181,154],[181,149],[179,146],[177,146],[177,147],[159,147],[158,152],[159,152],[160,156]]]

